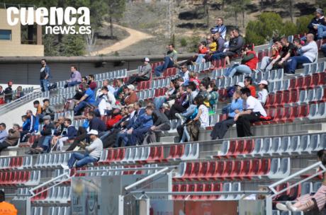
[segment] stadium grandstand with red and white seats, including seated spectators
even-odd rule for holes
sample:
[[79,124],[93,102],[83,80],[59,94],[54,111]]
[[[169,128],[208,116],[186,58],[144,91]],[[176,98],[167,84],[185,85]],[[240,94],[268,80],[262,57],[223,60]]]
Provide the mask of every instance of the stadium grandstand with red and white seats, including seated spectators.
[[11,77],[0,88],[0,204],[33,215],[322,214],[326,40],[255,47],[219,19],[186,59],[171,44],[164,61],[92,74],[71,64],[69,80],[50,82],[40,57],[40,88],[13,91]]

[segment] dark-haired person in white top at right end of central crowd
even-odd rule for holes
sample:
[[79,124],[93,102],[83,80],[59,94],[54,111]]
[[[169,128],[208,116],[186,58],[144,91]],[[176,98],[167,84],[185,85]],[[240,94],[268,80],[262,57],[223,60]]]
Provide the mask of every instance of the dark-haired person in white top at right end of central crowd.
[[187,141],[198,141],[199,129],[209,126],[208,108],[203,104],[203,101],[203,96],[196,96],[194,100],[196,110],[193,112],[193,115],[190,116],[186,123],[176,128],[181,143]]

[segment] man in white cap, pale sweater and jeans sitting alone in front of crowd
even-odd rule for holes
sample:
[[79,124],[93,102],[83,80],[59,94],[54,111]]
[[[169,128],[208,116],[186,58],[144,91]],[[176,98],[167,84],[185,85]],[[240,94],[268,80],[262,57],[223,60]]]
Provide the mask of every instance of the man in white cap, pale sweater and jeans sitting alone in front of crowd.
[[[73,168],[74,163],[76,163],[76,167],[79,168],[81,166],[86,165],[87,163],[95,163],[99,161],[99,158],[101,157],[101,153],[103,151],[103,143],[98,137],[99,132],[94,129],[91,129],[91,131],[89,131],[87,134],[89,134],[89,139],[91,139],[91,145],[86,146],[85,154],[78,152],[72,153],[72,156],[70,156],[68,161],[69,168]],[[67,169],[67,166],[62,165],[62,168]]]

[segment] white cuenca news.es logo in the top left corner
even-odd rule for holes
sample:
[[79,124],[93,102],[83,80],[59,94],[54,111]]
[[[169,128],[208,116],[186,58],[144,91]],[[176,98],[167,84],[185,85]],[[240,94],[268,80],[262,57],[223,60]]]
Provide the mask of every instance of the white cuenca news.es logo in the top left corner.
[[[33,7],[7,8],[7,22],[9,25],[38,25],[45,26],[45,34],[91,34],[91,25],[89,18],[89,8],[87,7],[67,7],[56,8],[51,7],[50,13],[47,8]],[[78,27],[76,24],[78,23]]]

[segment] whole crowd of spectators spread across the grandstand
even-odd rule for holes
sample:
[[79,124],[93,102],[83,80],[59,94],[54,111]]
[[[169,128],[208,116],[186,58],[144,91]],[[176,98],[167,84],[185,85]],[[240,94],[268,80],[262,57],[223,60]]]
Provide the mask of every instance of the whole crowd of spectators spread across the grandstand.
[[[234,124],[238,137],[253,136],[251,124],[268,117],[264,105],[269,95],[269,83],[260,81],[257,92],[252,73],[282,68],[286,74],[294,74],[298,64],[315,62],[318,52],[316,40],[326,37],[323,11],[317,9],[315,15],[308,26],[308,34],[301,40],[292,42],[288,41],[288,37],[275,38],[271,55],[263,57],[260,66],[254,45],[245,44],[245,38],[238,29],[227,31],[221,17],[217,19],[216,26],[210,29],[206,41],[198,45],[198,54],[178,62],[178,52],[170,44],[163,64],[152,68],[150,59],[145,57],[139,73],[130,76],[125,83],[123,79],[114,83],[105,80],[99,88],[94,75],[81,76],[77,66],[72,65],[64,87],[74,87],[75,94],[73,98],[65,100],[64,110],[71,110],[74,115],[55,119],[58,110],[50,104],[49,99],[44,99],[42,104],[35,100],[35,110],[26,111],[26,115],[21,117],[21,126],[13,124],[6,132],[6,124],[0,124],[0,151],[40,134],[38,139],[33,138],[28,154],[62,151],[64,144],[67,144],[67,151],[83,149],[86,152],[72,153],[68,167],[64,168],[80,167],[99,161],[102,149],[157,142],[163,132],[172,128],[171,120],[178,122],[176,130],[179,142],[197,141],[200,130],[210,126],[210,115],[215,114],[219,94],[215,80],[209,77],[200,80],[198,73],[189,71],[189,65],[211,62],[210,69],[215,69],[221,59],[229,66],[217,79],[245,74],[245,81],[227,89],[230,104],[223,108],[227,118],[214,125],[211,139],[223,139],[227,129]],[[325,45],[322,50],[326,54]],[[231,62],[231,59],[234,60]],[[135,84],[151,80],[152,74],[159,77],[172,67],[179,68],[179,74],[170,81],[164,95],[146,102],[137,98]],[[52,88],[51,78],[50,66],[42,59],[42,91]],[[13,95],[12,84],[9,81],[5,90],[0,86],[0,101],[2,98],[9,103],[23,96],[21,88]],[[83,124],[75,127],[74,120],[81,119]]]

